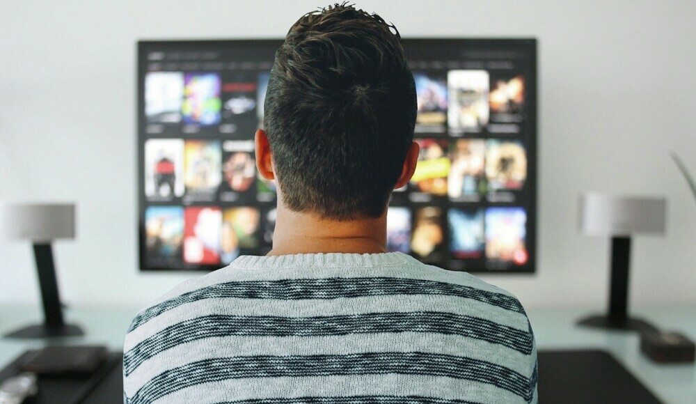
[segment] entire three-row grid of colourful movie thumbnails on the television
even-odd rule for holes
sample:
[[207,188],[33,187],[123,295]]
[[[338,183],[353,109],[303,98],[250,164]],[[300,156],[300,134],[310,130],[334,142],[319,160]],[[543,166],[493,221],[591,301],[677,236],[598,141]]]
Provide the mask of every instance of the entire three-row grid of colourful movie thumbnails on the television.
[[[214,267],[270,250],[276,189],[255,169],[252,140],[262,127],[268,77],[146,73],[150,267]],[[393,195],[388,249],[450,269],[476,261],[496,269],[524,265],[525,208],[490,206],[523,205],[527,153],[509,136],[521,132],[523,75],[450,70],[416,72],[414,79],[421,150],[413,179]]]

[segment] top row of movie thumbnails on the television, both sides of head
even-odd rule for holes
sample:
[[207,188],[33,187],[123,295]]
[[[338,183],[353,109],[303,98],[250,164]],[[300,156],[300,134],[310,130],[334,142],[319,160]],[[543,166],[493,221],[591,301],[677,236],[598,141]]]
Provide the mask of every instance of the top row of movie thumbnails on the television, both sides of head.
[[[519,135],[525,77],[489,70],[416,71],[416,133]],[[148,72],[145,132],[251,136],[261,127],[269,72]]]

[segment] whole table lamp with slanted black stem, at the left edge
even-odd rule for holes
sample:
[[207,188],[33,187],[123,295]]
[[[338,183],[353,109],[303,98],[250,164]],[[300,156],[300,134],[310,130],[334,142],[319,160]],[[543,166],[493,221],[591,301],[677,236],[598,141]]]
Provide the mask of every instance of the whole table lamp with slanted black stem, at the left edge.
[[31,240],[38,270],[44,323],[6,334],[10,338],[45,338],[84,334],[63,323],[51,242],[75,237],[74,204],[24,203],[0,205],[0,241]]

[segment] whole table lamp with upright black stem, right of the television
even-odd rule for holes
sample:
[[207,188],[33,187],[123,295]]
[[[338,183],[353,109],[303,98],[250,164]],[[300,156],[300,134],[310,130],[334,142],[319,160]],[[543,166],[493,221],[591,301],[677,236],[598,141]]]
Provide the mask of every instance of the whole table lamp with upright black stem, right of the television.
[[663,198],[639,198],[587,193],[580,196],[580,231],[586,235],[611,237],[611,279],[609,313],[590,316],[578,324],[610,329],[656,331],[638,318],[629,318],[628,264],[631,258],[631,236],[642,233],[665,233]]

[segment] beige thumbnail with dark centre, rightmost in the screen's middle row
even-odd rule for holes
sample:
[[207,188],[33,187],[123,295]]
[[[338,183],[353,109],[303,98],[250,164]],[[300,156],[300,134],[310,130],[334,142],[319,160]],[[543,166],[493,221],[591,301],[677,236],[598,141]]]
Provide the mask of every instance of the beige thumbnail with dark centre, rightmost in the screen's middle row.
[[486,176],[491,191],[522,189],[527,179],[527,153],[521,141],[489,139]]

